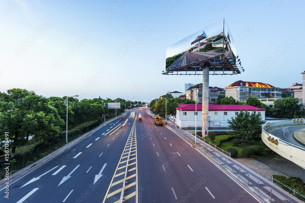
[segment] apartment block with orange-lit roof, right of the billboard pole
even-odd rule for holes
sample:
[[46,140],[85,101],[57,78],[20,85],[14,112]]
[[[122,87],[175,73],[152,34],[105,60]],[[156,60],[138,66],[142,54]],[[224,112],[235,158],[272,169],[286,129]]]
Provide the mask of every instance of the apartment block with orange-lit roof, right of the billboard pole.
[[282,88],[262,82],[236,81],[225,87],[225,96],[232,96],[236,101],[246,101],[249,97],[259,99],[277,99],[282,97]]

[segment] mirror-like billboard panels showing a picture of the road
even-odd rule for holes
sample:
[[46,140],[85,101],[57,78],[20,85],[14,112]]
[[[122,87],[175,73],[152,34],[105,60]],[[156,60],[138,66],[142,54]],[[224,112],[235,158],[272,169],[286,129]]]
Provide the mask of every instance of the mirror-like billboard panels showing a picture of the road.
[[235,50],[231,31],[222,19],[169,46],[166,49],[166,71],[177,71],[222,54],[235,63]]

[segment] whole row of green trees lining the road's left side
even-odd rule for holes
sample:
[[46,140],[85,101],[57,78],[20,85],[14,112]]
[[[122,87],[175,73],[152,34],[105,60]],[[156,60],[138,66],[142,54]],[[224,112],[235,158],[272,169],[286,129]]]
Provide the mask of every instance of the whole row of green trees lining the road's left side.
[[[12,157],[16,147],[24,146],[29,137],[36,143],[47,143],[51,139],[62,136],[66,130],[67,107],[64,100],[67,97],[49,97],[35,94],[26,89],[9,89],[7,93],[0,92],[0,147],[5,144],[5,132],[9,132],[9,146]],[[142,102],[125,101],[117,98],[106,99],[104,103],[119,102],[117,113],[142,105]],[[145,104],[145,103],[144,103]],[[103,114],[115,115],[115,109],[103,107],[101,98],[83,99],[68,98],[68,129],[72,129],[86,121],[94,121]],[[100,121],[102,119],[99,119]],[[103,120],[102,120],[103,122]]]

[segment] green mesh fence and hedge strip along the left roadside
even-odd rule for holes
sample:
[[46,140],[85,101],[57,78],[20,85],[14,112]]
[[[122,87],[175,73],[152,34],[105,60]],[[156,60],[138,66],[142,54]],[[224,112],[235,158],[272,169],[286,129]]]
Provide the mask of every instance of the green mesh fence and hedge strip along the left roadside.
[[[75,140],[76,138],[82,136],[84,133],[91,131],[96,126],[98,126],[99,123],[96,122],[92,125],[89,125],[87,127],[84,127],[82,129],[78,129],[75,132],[68,134],[68,142],[71,142],[72,140]],[[9,158],[10,162],[10,175],[14,172],[17,172],[20,169],[23,169],[24,167],[34,163],[38,159],[46,156],[47,154],[50,154],[51,152],[55,151],[56,149],[64,146],[66,144],[66,133],[64,133],[62,136],[60,136],[57,139],[51,140],[50,142],[46,144],[40,144],[38,146],[32,146],[32,145],[26,145],[21,148],[16,148],[16,155],[14,158]],[[19,154],[19,151],[26,151],[26,153],[21,152]],[[11,150],[9,154],[11,154]],[[2,166],[3,170],[0,170],[0,180],[4,179],[4,159],[0,161],[0,166]],[[6,161],[7,163],[7,161]],[[1,168],[0,168],[1,169]]]

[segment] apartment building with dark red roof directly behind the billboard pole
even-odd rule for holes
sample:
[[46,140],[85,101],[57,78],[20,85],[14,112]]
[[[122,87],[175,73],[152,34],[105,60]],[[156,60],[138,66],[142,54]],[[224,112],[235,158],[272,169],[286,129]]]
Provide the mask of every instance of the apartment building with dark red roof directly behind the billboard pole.
[[[187,99],[196,101],[197,96],[198,103],[202,103],[202,83],[188,88],[186,94],[188,94]],[[219,87],[209,87],[209,104],[217,103],[218,94],[225,94],[225,90]]]

